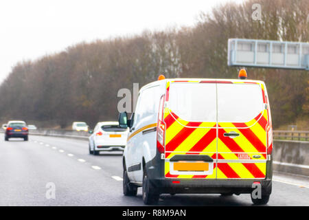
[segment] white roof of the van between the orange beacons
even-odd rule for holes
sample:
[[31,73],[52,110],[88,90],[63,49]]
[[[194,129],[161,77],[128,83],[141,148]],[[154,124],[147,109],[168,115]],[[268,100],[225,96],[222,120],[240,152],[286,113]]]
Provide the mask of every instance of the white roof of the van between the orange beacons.
[[[166,82],[171,82],[171,81],[230,81],[232,83],[237,83],[237,82],[246,82],[246,83],[261,83],[264,84],[263,81],[261,80],[241,80],[241,79],[227,79],[227,78],[165,78],[164,80],[157,80],[152,83],[148,83],[147,85],[144,85],[144,87],[141,87],[140,91],[143,89],[146,89],[147,87],[151,87],[154,85],[161,85],[165,84]],[[189,82],[189,83],[190,83]]]

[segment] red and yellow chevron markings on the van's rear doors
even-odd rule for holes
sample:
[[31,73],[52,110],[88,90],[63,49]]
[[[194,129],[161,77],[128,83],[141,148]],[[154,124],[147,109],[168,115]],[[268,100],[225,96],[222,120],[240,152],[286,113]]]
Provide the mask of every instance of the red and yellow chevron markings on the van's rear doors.
[[[218,123],[218,159],[212,175],[205,178],[263,178],[266,173],[266,111],[246,123]],[[176,154],[207,154],[216,159],[217,138],[216,122],[187,122],[170,109],[165,111],[166,124],[165,158]],[[227,126],[228,128],[223,128]],[[239,126],[239,127],[238,127]],[[236,138],[225,137],[224,133],[236,131]],[[254,158],[253,155],[260,155]],[[221,160],[228,159],[228,163]],[[252,163],[237,162],[239,159],[252,160]],[[232,162],[231,162],[232,160]],[[233,162],[235,160],[235,162]],[[258,162],[262,160],[262,162]],[[215,175],[215,171],[217,175]],[[194,175],[171,175],[170,163],[165,162],[165,177],[193,178]],[[201,178],[201,177],[195,177]],[[204,178],[204,177],[203,177]]]

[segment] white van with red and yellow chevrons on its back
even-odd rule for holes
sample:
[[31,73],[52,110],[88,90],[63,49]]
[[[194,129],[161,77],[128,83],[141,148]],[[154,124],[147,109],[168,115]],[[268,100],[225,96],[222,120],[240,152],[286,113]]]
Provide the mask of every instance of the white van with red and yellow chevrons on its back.
[[163,193],[251,193],[268,202],[273,136],[259,80],[163,79],[141,88],[124,148],[124,195],[141,186],[144,203]]

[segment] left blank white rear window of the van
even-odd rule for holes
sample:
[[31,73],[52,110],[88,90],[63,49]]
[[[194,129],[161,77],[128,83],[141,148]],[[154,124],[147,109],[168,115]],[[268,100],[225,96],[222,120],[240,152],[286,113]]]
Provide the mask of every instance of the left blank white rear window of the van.
[[215,83],[171,83],[169,107],[190,122],[216,122]]

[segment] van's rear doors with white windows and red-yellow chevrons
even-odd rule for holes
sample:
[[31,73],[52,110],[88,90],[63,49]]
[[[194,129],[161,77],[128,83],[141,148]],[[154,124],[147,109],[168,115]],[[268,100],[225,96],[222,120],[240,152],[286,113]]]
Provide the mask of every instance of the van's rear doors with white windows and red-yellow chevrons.
[[256,179],[266,173],[264,85],[172,81],[165,94],[165,177]]

